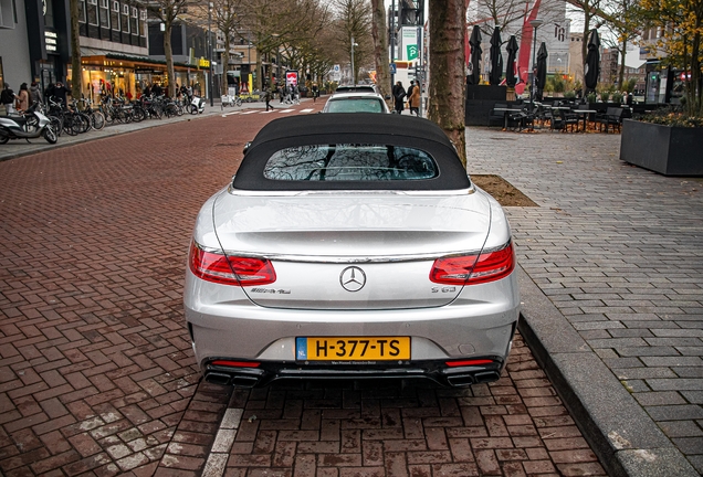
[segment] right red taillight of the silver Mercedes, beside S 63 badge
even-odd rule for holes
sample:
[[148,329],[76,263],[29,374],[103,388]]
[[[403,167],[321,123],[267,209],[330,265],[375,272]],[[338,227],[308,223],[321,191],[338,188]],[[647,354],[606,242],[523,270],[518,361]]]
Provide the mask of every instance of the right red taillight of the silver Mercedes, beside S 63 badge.
[[480,255],[463,255],[434,261],[430,280],[443,285],[476,285],[508,276],[515,268],[513,243]]

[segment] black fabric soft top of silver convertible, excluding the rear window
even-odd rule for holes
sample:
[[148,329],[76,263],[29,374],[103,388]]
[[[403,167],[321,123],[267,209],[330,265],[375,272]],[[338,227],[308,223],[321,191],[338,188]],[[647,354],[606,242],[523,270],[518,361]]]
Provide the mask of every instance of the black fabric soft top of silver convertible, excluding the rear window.
[[[371,144],[411,147],[426,151],[437,162],[438,177],[427,180],[309,182],[264,178],[271,156],[284,148],[327,144]],[[434,123],[427,119],[377,113],[298,115],[274,119],[256,135],[234,178],[242,190],[458,190],[471,186],[457,150]]]

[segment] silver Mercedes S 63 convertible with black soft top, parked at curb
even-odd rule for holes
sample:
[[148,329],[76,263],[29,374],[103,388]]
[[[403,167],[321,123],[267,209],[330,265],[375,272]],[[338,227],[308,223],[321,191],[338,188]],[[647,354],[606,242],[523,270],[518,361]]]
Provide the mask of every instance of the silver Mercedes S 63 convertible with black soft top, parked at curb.
[[434,124],[271,121],[197,218],[185,310],[209,382],[499,379],[517,325],[514,244]]

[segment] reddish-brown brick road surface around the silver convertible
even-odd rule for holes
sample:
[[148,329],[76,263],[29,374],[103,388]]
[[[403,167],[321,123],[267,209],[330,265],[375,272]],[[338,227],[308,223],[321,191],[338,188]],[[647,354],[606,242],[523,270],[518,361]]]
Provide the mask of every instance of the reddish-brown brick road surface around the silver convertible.
[[501,381],[463,391],[200,381],[181,307],[192,221],[272,117],[0,162],[0,473],[604,475],[520,339]]

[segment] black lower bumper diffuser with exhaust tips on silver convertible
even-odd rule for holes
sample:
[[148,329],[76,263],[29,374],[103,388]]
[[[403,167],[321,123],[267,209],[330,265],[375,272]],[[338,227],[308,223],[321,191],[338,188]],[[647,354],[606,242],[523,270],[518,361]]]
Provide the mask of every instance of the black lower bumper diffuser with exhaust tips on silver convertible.
[[[472,358],[472,359],[475,359]],[[445,361],[410,361],[392,365],[352,367],[264,361],[258,368],[217,365],[206,360],[202,370],[206,381],[239,388],[265,386],[277,380],[312,379],[429,379],[444,386],[465,388],[497,381],[505,364],[502,357],[484,357],[491,363],[450,368]]]

